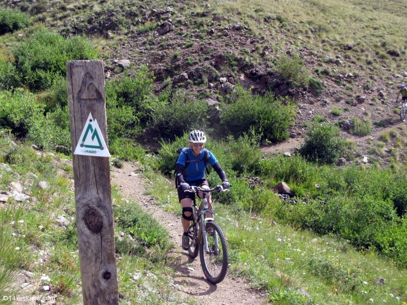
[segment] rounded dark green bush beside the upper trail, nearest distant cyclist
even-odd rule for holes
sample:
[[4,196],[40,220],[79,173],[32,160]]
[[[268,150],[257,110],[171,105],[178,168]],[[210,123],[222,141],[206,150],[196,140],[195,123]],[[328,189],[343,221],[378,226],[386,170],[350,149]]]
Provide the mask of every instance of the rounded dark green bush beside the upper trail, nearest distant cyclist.
[[313,162],[332,164],[339,159],[345,144],[339,129],[332,123],[313,123],[312,128],[305,133],[300,154]]

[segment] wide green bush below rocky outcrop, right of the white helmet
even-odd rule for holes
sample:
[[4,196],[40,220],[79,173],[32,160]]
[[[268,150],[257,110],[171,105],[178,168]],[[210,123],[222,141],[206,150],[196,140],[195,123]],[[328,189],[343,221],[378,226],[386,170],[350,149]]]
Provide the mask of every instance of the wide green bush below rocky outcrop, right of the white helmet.
[[280,141],[288,138],[287,128],[295,124],[295,104],[289,100],[276,99],[272,94],[253,96],[237,86],[231,101],[230,105],[223,105],[221,126],[236,138],[253,129],[256,134],[263,134],[263,139]]

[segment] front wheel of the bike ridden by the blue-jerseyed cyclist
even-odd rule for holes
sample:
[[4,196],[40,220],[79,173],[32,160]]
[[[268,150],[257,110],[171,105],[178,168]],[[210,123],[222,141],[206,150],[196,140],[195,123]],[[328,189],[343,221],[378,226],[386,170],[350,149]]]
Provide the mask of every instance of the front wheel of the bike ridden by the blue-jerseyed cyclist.
[[229,261],[226,237],[217,223],[208,222],[206,230],[209,253],[205,251],[205,242],[200,242],[200,264],[202,265],[203,273],[208,281],[212,284],[218,284],[222,282],[226,276],[227,264]]

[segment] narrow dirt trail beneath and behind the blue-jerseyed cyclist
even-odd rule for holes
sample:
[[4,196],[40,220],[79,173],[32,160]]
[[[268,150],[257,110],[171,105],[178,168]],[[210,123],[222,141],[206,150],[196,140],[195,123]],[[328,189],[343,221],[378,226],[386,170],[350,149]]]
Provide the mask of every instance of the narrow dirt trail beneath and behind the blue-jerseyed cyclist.
[[125,163],[123,168],[114,169],[111,182],[120,187],[123,196],[134,198],[141,204],[144,211],[151,214],[169,231],[172,242],[176,244],[176,247],[170,252],[170,256],[175,262],[174,283],[182,287],[181,292],[194,297],[199,304],[255,305],[266,303],[266,295],[250,289],[249,283],[242,278],[235,278],[228,274],[218,285],[210,284],[207,281],[203,276],[199,256],[191,260],[188,253],[181,248],[181,234],[183,232],[181,219],[153,204],[153,199],[144,194],[146,189],[143,186],[143,179],[139,176],[129,175],[135,170],[136,167]]

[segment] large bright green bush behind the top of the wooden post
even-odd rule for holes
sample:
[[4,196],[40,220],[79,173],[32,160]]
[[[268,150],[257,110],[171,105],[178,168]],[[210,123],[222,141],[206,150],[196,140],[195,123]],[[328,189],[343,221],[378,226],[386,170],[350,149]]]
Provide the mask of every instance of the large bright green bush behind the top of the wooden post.
[[97,59],[98,54],[85,36],[64,38],[40,27],[12,50],[21,79],[31,90],[51,87],[58,76],[66,76],[69,60]]

